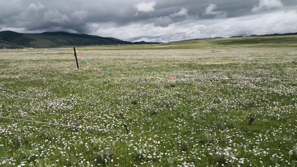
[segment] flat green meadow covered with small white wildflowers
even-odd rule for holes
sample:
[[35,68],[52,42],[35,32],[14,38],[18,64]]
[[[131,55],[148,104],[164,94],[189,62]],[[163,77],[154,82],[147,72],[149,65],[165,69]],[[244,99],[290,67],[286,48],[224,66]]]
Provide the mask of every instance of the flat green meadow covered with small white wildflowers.
[[0,52],[0,116],[120,133],[0,119],[1,167],[297,166],[296,48],[94,48]]

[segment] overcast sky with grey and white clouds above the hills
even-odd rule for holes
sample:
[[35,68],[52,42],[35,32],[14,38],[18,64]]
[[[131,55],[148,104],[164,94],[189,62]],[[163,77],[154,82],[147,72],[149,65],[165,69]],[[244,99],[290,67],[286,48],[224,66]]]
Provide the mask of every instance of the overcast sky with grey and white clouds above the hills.
[[169,42],[297,32],[297,0],[0,0],[0,31]]

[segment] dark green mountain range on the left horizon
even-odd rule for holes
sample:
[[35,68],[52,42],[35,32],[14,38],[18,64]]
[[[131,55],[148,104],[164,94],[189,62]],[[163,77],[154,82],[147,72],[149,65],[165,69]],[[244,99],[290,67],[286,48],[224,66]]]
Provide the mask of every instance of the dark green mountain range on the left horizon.
[[[133,44],[160,44],[160,42],[127,42],[112,37],[78,34],[69,32],[42,32],[36,34],[18,33],[14,31],[0,31],[0,47],[18,45],[29,48],[54,48],[61,46],[85,45],[133,45]],[[7,46],[6,48],[15,48]]]

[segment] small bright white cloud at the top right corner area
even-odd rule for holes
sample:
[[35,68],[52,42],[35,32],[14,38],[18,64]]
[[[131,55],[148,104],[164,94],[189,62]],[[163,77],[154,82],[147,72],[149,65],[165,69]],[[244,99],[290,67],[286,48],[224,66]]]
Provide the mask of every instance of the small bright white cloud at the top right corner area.
[[259,12],[261,10],[270,10],[273,8],[281,8],[284,5],[280,0],[259,0],[259,5],[255,5],[252,12]]

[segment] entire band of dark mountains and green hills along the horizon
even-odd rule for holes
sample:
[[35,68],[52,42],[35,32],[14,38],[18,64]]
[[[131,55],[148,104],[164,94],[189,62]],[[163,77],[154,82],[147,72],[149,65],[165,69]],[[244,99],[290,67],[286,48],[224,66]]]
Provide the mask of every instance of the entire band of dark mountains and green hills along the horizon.
[[[213,39],[184,40],[168,43],[127,42],[110,37],[68,32],[43,32],[40,34],[21,34],[13,31],[0,32],[0,48],[16,48],[18,45],[31,48],[55,48],[63,46],[106,45],[89,49],[190,49],[190,48],[228,48],[228,47],[296,47],[297,33],[250,35],[248,37],[217,37]],[[117,46],[117,45],[121,46]],[[135,45],[133,45],[135,44]],[[157,44],[157,45],[143,45]]]

